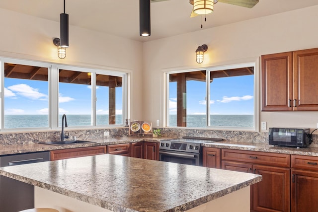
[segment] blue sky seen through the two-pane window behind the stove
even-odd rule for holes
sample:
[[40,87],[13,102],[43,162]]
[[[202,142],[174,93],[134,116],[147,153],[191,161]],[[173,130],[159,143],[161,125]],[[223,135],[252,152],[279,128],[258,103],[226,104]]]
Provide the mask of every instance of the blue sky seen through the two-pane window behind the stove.
[[[215,78],[210,114],[253,114],[254,75]],[[205,82],[187,81],[187,114],[206,114]],[[176,82],[169,84],[169,113],[176,114]]]

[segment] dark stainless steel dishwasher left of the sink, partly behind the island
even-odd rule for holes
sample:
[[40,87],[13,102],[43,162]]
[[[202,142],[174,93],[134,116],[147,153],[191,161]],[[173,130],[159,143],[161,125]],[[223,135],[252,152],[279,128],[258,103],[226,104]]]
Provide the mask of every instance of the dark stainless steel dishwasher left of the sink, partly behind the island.
[[[50,160],[49,151],[0,156],[0,167]],[[34,208],[34,186],[0,176],[0,212],[17,212]]]

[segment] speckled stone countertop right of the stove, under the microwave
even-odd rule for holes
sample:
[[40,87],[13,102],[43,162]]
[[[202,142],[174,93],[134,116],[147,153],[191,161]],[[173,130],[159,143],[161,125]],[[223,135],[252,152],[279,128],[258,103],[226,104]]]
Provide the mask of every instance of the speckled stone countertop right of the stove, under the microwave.
[[234,141],[203,143],[202,146],[238,149],[238,150],[249,150],[249,151],[262,151],[262,152],[274,152],[274,153],[284,153],[284,154],[318,156],[318,147],[314,147],[314,146],[308,146],[305,148],[296,148],[296,147],[274,146],[274,145],[269,145],[268,143],[250,143],[250,142],[234,142]]

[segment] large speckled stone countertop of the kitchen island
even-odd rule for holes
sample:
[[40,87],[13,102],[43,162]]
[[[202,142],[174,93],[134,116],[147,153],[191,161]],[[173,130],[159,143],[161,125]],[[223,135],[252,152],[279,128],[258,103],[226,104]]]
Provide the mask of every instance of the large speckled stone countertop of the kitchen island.
[[3,167],[0,174],[115,212],[186,211],[262,179],[111,154]]

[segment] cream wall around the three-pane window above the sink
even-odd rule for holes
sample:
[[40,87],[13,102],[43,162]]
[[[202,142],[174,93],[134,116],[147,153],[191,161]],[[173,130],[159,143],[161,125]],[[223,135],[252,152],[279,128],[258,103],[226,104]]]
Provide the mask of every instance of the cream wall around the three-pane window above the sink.
[[[53,45],[53,38],[60,37],[59,22],[0,9],[0,26],[0,57],[129,72],[130,88],[141,93],[141,42],[70,26],[70,47],[60,60]],[[141,102],[141,95],[131,96],[130,118],[141,119]]]

